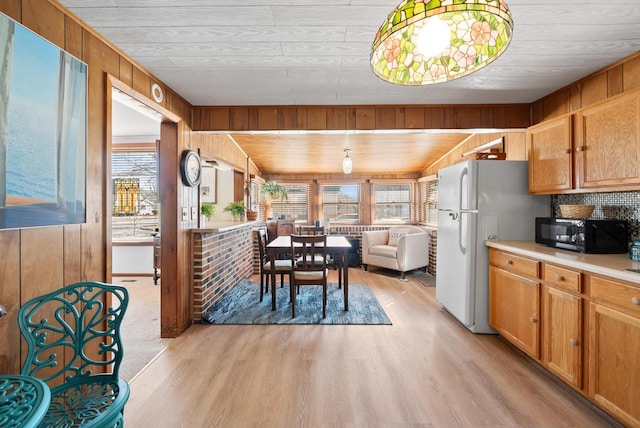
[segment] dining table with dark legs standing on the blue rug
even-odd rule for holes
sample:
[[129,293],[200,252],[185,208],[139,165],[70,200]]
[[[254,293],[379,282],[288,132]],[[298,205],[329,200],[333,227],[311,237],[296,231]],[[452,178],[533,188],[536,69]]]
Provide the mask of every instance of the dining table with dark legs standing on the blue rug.
[[[327,253],[337,256],[338,286],[344,291],[344,310],[349,310],[349,249],[351,243],[342,235],[327,235]],[[291,252],[291,236],[280,235],[267,244],[271,265],[279,255]],[[275,269],[271,271],[271,284],[276,283]],[[271,309],[276,310],[276,287],[271,287]]]

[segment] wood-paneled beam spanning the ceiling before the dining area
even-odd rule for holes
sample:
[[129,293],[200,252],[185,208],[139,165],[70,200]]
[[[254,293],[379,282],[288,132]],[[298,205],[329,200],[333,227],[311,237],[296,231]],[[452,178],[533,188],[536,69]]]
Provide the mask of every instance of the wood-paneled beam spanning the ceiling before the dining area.
[[194,107],[194,131],[526,128],[528,104]]

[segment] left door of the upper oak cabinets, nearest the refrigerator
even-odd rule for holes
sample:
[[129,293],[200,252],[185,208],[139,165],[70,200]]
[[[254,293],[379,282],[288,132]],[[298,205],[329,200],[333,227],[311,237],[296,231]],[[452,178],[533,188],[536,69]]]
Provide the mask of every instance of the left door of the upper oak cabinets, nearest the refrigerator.
[[562,193],[573,188],[572,118],[562,116],[527,130],[531,193]]

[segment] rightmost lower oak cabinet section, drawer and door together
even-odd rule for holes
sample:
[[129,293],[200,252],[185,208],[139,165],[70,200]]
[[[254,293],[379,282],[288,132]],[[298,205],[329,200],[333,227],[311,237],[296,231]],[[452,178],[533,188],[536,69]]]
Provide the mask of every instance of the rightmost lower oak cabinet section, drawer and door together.
[[591,276],[589,397],[640,427],[640,288]]

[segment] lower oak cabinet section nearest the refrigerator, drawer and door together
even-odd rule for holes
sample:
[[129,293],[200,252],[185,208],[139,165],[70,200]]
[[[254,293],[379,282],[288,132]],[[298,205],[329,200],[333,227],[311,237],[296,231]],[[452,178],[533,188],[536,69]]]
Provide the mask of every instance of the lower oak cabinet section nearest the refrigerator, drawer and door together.
[[489,261],[489,325],[540,359],[539,263],[494,249]]

